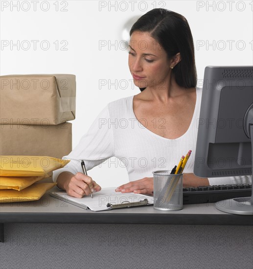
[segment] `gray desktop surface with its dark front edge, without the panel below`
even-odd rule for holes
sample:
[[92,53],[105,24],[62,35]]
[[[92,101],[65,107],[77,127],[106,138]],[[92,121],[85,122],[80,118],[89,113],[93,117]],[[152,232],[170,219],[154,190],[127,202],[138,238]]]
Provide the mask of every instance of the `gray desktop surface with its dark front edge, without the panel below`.
[[253,217],[224,213],[214,203],[185,204],[170,212],[152,205],[92,212],[46,193],[38,201],[1,203],[0,223],[253,225]]

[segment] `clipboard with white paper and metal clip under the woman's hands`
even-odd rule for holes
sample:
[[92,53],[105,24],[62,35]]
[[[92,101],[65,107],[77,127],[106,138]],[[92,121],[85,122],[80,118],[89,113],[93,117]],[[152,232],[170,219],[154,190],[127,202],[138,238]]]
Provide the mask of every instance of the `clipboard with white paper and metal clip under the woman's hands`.
[[75,198],[67,195],[66,192],[49,192],[49,195],[64,202],[92,211],[144,206],[154,203],[153,196],[135,193],[118,193],[115,192],[115,188],[104,188],[97,193],[93,193],[93,198],[88,196]]

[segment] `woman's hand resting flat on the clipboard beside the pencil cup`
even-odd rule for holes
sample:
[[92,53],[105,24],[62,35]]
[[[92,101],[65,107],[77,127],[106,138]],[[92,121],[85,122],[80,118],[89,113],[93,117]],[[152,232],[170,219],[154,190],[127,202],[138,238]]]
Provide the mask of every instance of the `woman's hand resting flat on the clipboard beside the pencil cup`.
[[134,192],[139,194],[153,195],[154,191],[154,179],[143,178],[135,181],[130,181],[115,189],[116,192],[126,193]]

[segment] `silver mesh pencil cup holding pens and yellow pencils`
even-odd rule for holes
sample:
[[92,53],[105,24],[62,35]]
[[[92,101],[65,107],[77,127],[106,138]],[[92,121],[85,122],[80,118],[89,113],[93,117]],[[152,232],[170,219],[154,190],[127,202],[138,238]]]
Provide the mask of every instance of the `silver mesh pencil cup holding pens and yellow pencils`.
[[183,208],[183,174],[170,175],[169,170],[152,172],[154,175],[154,208],[180,210]]

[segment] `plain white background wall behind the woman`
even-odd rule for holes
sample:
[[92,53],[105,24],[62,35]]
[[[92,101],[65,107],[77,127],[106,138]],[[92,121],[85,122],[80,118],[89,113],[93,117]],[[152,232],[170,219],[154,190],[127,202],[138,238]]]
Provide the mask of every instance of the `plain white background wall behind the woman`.
[[[73,147],[107,103],[139,92],[131,81],[127,52],[109,45],[120,44],[123,25],[133,16],[154,7],[184,15],[194,38],[200,86],[206,66],[253,65],[253,1],[1,0],[0,4],[1,75],[76,75]],[[99,49],[101,41],[107,45]],[[99,87],[101,80],[107,85]],[[117,81],[117,89],[109,80]],[[128,82],[126,89],[123,80]],[[128,181],[120,164],[107,162],[89,175],[102,187],[118,186]]]

